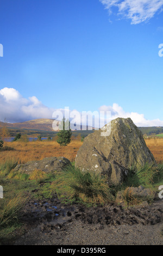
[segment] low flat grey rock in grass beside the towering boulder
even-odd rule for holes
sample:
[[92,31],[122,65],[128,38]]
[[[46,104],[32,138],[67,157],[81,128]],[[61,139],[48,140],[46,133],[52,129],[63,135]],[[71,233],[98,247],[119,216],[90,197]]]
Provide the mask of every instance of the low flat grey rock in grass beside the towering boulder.
[[30,161],[24,164],[18,164],[15,167],[14,172],[30,174],[35,169],[40,169],[46,173],[53,173],[62,170],[67,165],[71,165],[71,162],[65,157],[46,157],[40,161]]

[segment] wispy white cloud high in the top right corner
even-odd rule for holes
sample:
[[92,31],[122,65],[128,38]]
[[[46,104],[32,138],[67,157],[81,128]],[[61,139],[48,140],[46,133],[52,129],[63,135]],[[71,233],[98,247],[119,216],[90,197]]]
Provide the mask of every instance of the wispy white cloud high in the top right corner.
[[112,13],[112,8],[118,9],[118,15],[131,20],[131,24],[148,21],[158,11],[162,11],[163,0],[99,0]]

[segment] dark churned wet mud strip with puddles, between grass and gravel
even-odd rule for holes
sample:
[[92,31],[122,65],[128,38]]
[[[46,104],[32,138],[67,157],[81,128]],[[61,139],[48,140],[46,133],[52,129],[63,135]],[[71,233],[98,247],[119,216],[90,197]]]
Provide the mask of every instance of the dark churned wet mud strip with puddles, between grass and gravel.
[[[152,205],[140,205],[123,208],[122,205],[109,204],[86,208],[83,205],[63,205],[58,198],[51,200],[32,200],[23,209],[22,221],[25,223],[44,223],[46,229],[62,229],[67,223],[81,221],[87,224],[122,225],[142,224],[154,225],[162,222],[163,202],[158,200]],[[47,225],[48,224],[48,225]],[[42,225],[43,227],[43,225]]]

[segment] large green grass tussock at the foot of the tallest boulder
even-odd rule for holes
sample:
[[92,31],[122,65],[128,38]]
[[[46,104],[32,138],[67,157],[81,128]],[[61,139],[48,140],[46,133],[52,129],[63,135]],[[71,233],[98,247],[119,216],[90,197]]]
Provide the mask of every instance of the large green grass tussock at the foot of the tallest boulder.
[[111,189],[101,175],[82,172],[72,166],[56,176],[52,187],[65,202],[82,200],[84,203],[104,204],[114,200]]

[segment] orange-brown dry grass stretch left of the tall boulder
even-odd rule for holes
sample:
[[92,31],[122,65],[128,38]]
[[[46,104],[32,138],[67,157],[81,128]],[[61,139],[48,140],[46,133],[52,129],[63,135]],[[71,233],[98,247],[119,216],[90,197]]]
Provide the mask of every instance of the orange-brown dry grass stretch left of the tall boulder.
[[71,162],[74,161],[77,151],[83,144],[79,139],[73,139],[66,147],[56,141],[34,141],[34,142],[4,142],[4,149],[0,151],[1,163],[8,159],[17,163],[42,160],[45,157],[64,156]]

